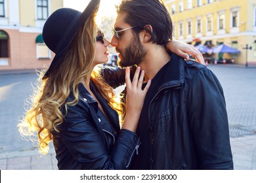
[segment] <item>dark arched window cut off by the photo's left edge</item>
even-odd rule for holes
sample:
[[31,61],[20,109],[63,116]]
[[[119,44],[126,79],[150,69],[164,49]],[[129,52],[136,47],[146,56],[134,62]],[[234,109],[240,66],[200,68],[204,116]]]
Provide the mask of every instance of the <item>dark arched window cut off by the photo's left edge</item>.
[[0,65],[8,65],[9,61],[9,37],[5,31],[0,30]]

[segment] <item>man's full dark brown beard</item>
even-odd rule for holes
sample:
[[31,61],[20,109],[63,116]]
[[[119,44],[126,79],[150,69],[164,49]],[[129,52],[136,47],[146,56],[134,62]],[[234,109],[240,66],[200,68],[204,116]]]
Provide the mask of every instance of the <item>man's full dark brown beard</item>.
[[117,63],[120,67],[139,65],[146,56],[146,50],[140,42],[139,35],[135,35],[131,44],[125,48],[124,53],[120,52],[119,54],[121,54],[121,60]]

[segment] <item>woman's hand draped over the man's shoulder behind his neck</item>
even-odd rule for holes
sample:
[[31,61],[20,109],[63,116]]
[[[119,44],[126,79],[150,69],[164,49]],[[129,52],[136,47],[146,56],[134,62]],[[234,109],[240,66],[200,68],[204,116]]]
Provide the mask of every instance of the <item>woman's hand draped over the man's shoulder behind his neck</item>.
[[199,63],[202,63],[205,65],[205,61],[203,59],[203,55],[201,54],[200,51],[198,51],[194,46],[191,44],[186,44],[185,42],[181,41],[168,41],[167,44],[165,45],[166,49],[177,54],[178,56],[188,60],[189,56],[188,54],[192,55],[194,58],[196,58],[196,61]]

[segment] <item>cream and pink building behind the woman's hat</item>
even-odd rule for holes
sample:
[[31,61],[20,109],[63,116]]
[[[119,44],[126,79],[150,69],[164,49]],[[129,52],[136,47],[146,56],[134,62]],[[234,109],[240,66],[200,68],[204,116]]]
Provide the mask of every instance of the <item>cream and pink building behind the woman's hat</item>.
[[54,54],[41,37],[49,15],[63,0],[0,0],[0,70],[37,69]]

